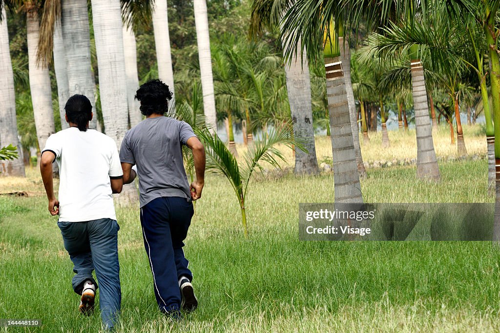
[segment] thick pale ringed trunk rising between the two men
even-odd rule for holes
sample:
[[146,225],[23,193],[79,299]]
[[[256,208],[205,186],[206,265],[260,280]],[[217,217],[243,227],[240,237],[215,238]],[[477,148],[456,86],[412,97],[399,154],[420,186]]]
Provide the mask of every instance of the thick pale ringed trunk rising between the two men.
[[[125,55],[119,0],[92,0],[92,17],[99,68],[100,103],[106,134],[120,149],[128,128]],[[123,185],[118,205],[138,203],[135,184]]]

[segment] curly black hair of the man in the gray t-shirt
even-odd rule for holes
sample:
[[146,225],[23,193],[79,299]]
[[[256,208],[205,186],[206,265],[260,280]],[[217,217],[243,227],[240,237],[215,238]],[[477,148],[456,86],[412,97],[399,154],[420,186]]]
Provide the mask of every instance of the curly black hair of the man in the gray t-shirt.
[[168,111],[172,92],[160,79],[149,80],[137,89],[135,99],[140,101],[140,113],[143,115],[163,114]]

